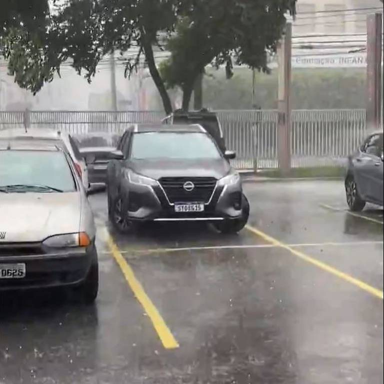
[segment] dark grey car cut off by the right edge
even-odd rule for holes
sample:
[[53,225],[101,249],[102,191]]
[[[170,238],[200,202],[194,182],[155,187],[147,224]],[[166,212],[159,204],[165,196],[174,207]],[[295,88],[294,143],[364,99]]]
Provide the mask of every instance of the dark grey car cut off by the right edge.
[[351,210],[366,202],[383,205],[383,132],[373,132],[348,158],[345,177],[346,201]]

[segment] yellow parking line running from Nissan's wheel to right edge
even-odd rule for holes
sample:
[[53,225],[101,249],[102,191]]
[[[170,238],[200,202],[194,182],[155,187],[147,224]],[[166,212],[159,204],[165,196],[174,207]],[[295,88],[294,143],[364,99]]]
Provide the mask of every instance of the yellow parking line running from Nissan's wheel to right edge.
[[325,270],[326,272],[329,272],[355,286],[357,286],[358,288],[360,289],[363,289],[365,290],[366,292],[372,294],[373,296],[376,296],[378,298],[381,298],[383,299],[383,291],[382,290],[379,290],[377,288],[374,288],[373,286],[347,274],[347,273],[344,273],[336,268],[334,268],[333,266],[330,266],[328,264],[326,264],[325,262],[322,262],[320,260],[317,260],[316,258],[314,257],[311,257],[311,256],[308,256],[307,254],[297,250],[297,249],[294,249],[292,247],[290,247],[289,245],[287,244],[284,244],[283,242],[275,239],[274,237],[271,237],[269,235],[267,235],[266,233],[262,232],[261,230],[259,229],[256,229],[250,225],[246,225],[246,229],[248,229],[249,231],[251,231],[252,233],[260,236],[261,238],[263,238],[265,241],[268,241],[270,242],[271,244],[274,244],[276,246],[279,246],[280,248],[283,248],[283,249],[286,249],[288,250],[290,253],[294,254],[295,256],[301,258],[302,260],[305,260],[315,266],[317,266],[318,268],[322,269],[322,270]]

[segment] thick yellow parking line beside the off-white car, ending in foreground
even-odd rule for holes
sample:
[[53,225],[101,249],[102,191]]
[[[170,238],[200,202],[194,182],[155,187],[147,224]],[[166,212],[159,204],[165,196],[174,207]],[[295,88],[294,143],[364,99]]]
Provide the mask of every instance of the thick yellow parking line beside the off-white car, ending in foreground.
[[145,293],[142,285],[137,280],[136,276],[133,273],[132,268],[125,261],[124,257],[121,255],[117,245],[113,241],[112,237],[108,233],[106,238],[109,248],[112,252],[114,259],[117,264],[120,266],[121,271],[128,282],[130,288],[132,289],[134,295],[137,300],[140,302],[142,307],[144,308],[146,314],[149,316],[152,321],[153,327],[156,330],[158,337],[160,338],[162,345],[166,349],[178,348],[178,342],[174,338],[173,334],[165,324],[165,321],[161,317],[157,308],[154,306],[148,295]]

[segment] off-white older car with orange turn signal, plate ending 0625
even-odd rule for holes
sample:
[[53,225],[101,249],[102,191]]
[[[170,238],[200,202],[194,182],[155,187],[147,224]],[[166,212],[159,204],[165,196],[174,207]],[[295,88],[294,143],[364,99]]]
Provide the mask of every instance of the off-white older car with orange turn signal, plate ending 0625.
[[46,140],[0,139],[0,297],[4,290],[98,291],[96,229],[69,154]]

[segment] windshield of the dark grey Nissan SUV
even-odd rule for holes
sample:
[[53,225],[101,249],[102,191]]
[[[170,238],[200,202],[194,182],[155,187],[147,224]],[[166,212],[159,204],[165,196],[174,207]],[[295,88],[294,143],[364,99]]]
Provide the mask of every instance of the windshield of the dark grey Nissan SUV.
[[212,139],[200,132],[135,133],[130,157],[148,158],[220,158]]

